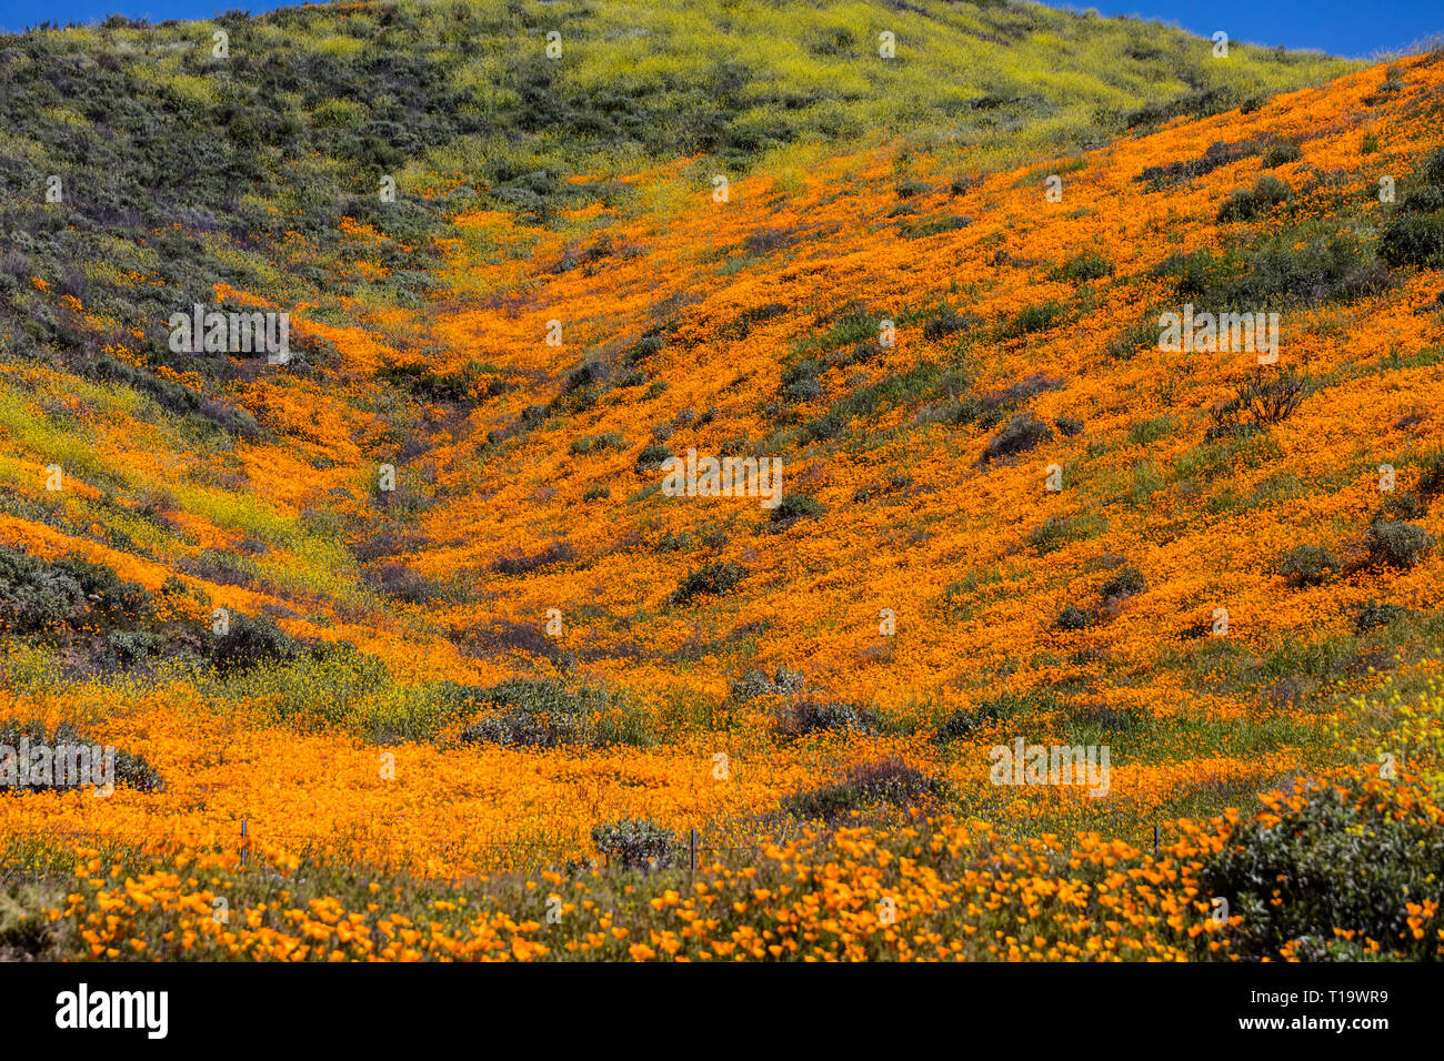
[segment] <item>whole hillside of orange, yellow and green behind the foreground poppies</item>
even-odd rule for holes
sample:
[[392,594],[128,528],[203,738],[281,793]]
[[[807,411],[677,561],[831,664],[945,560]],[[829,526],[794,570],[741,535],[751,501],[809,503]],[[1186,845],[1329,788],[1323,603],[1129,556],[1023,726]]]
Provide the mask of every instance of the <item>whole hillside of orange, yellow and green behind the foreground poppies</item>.
[[[318,902],[396,873],[420,917],[643,818],[718,881],[833,844],[868,882],[926,813],[1030,912],[1083,833],[1083,891],[1161,933],[1125,956],[1207,957],[1173,920],[1256,794],[1432,836],[1444,64],[1210,48],[933,0],[0,38],[0,726],[134,756],[0,801],[7,860],[244,891],[244,823]],[[175,349],[193,305],[289,313],[290,359]],[[1230,312],[1276,358],[1161,342]],[[670,497],[689,452],[781,491]],[[1106,791],[999,785],[1019,738],[1109,749]],[[1417,788],[1359,780],[1382,752]]]

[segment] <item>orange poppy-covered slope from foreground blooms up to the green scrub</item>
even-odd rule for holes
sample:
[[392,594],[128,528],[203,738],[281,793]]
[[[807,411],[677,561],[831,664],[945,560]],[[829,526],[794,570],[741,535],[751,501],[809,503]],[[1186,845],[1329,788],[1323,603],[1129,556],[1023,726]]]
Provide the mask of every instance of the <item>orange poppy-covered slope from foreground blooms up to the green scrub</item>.
[[[3,362],[0,719],[165,778],[0,800],[12,863],[81,859],[51,943],[947,957],[966,924],[1001,933],[969,957],[1206,956],[1196,878],[1239,814],[1175,821],[1246,818],[1305,775],[1367,805],[1395,709],[1350,697],[1432,673],[1444,592],[1444,62],[1240,102],[1063,157],[1006,130],[657,156],[547,224],[413,172],[394,206],[451,204],[416,245],[357,202],[266,250],[335,292],[286,300],[254,258],[214,284],[293,313],[284,368],[172,365],[74,283],[22,277],[13,305],[146,375]],[[386,287],[422,270],[423,297]],[[1184,303],[1279,313],[1276,364],[1160,349]],[[687,450],[780,459],[781,507],[669,497],[661,459]],[[1108,793],[992,784],[1015,738],[1108,746]],[[1395,797],[1437,823],[1427,785]],[[807,824],[827,800],[869,824]],[[716,863],[651,898],[693,931],[604,907],[543,941],[507,875],[550,866],[591,917],[567,862],[641,818]],[[1147,853],[1154,826],[1175,850]],[[439,894],[427,931],[322,892],[182,924],[241,850],[357,868],[338,889],[462,878],[469,902],[500,872],[511,898],[471,918]],[[894,870],[918,938],[877,922]],[[754,875],[755,909],[732,895]],[[973,892],[1067,924],[1032,943],[954,902]],[[719,894],[744,907],[721,935]],[[1099,902],[1147,931],[1109,940]]]

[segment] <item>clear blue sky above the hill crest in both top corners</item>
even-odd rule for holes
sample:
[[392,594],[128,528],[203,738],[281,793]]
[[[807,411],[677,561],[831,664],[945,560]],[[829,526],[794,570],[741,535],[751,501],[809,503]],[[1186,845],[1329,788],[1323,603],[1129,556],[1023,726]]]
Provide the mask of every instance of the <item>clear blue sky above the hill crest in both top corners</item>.
[[[238,7],[253,14],[284,4],[245,0],[0,0],[0,30],[19,32],[49,19],[95,22],[113,12],[133,19],[208,19]],[[1138,14],[1177,23],[1200,36],[1225,30],[1233,40],[1285,48],[1318,48],[1334,55],[1366,58],[1444,33],[1441,0],[1123,0],[1093,4],[1103,14]]]

